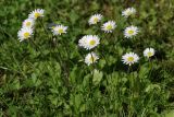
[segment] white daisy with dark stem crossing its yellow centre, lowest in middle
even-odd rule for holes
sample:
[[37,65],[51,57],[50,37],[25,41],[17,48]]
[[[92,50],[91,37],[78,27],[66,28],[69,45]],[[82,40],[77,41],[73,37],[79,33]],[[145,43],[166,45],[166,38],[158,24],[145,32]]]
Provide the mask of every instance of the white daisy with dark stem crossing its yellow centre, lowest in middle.
[[95,52],[89,52],[86,57],[85,57],[85,63],[87,63],[88,66],[91,63],[97,62],[97,60],[99,59],[99,57],[95,54]]

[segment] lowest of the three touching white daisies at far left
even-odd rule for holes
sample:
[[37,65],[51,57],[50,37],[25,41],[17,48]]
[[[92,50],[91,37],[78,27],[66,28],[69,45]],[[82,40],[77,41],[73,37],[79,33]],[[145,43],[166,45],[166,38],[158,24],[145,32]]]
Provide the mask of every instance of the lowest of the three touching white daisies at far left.
[[33,28],[23,27],[18,31],[17,36],[20,42],[28,39],[33,35]]

